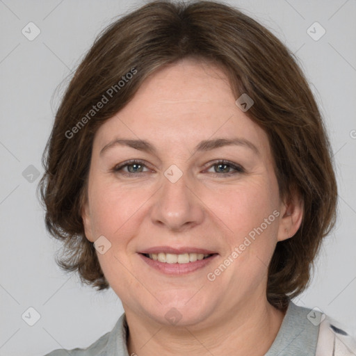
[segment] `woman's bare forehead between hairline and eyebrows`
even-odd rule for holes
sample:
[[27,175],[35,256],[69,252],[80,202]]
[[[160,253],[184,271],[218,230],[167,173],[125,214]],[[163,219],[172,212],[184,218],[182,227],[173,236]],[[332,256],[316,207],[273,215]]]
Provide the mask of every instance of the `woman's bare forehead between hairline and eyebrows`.
[[266,133],[236,106],[236,99],[220,67],[180,60],[149,76],[131,102],[102,124],[95,148],[122,137],[168,148],[172,143],[193,147],[200,140],[238,136],[266,151]]

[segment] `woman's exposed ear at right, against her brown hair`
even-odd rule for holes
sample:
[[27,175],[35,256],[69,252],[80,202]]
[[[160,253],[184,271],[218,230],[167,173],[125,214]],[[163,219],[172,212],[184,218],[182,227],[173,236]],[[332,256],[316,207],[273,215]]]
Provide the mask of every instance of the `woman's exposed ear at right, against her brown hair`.
[[280,227],[277,240],[284,241],[291,238],[298,231],[304,213],[304,203],[300,194],[294,190],[291,196],[280,205]]

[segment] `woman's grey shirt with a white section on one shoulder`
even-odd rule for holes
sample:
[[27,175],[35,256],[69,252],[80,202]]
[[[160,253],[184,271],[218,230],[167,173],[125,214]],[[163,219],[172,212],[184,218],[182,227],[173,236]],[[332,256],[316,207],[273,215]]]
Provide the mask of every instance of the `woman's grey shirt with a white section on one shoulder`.
[[[355,340],[336,324],[318,310],[289,302],[277,337],[264,356],[355,356]],[[45,356],[135,356],[127,350],[127,332],[122,314],[113,330],[88,348],[58,349]]]

